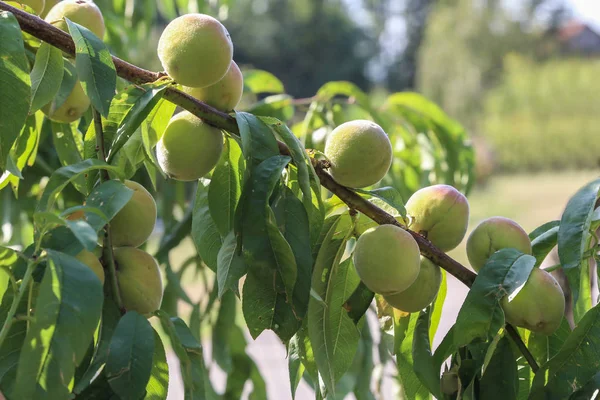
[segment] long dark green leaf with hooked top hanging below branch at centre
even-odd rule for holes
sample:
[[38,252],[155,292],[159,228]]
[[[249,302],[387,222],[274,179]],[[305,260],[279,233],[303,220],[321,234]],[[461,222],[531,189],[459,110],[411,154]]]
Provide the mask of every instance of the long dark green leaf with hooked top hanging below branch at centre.
[[274,156],[257,166],[246,182],[245,195],[238,207],[242,216],[244,259],[249,267],[242,308],[254,338],[264,329],[273,329],[287,341],[298,328],[294,319],[299,318],[292,300],[296,261],[268,205],[289,161],[290,157]]

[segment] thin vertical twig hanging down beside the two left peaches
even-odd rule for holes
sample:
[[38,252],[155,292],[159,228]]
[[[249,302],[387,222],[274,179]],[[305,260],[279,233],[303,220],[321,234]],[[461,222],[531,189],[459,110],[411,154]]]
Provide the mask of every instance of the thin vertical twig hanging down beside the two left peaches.
[[[104,149],[104,130],[102,129],[102,116],[100,113],[92,107],[92,114],[94,116],[94,128],[96,130],[96,148],[98,151],[98,158],[106,162],[106,151]],[[104,182],[110,179],[107,170],[100,171],[100,182]],[[117,303],[117,307],[122,314],[125,314],[127,310],[123,307],[123,300],[121,299],[121,290],[119,289],[119,281],[117,280],[117,267],[115,264],[115,255],[112,248],[112,235],[110,232],[110,223],[104,227],[104,242],[102,244],[102,261],[105,268],[108,269],[108,278],[110,279],[112,295]]]

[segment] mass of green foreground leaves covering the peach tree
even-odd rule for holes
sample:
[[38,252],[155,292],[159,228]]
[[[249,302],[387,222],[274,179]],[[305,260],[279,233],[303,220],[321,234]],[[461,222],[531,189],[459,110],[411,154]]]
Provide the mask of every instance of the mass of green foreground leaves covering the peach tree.
[[[266,398],[260,372],[245,352],[238,297],[253,338],[272,330],[286,344],[292,395],[305,379],[317,398],[350,392],[374,398],[372,380],[381,379],[373,376],[374,366],[393,356],[398,382],[411,399],[507,398],[507,393],[565,398],[596,389],[600,319],[589,277],[598,244],[592,232],[600,223],[594,211],[600,181],[573,197],[561,221],[531,233],[533,256],[503,250],[491,258],[456,324],[433,352],[445,279],[436,301],[420,314],[400,313],[366,289],[352,264],[356,215],[322,193],[305,147],[318,149],[323,134],[345,120],[379,122],[394,144],[394,167],[384,181],[392,186],[360,193],[404,215],[401,199],[423,185],[445,182],[469,189],[473,154],[458,123],[414,93],[393,94],[376,107],[351,83],[330,82],[308,102],[297,102],[269,73],[246,71],[251,104],[248,112],[236,113],[239,135],[226,135],[211,176],[193,184],[169,182],[161,179],[153,147],[175,110],[163,98],[170,83],[125,85],[101,41],[75,24],[69,30],[77,47],[74,70],[53,47],[31,37],[23,42],[14,16],[0,12],[0,33],[6,37],[0,42],[0,85],[5,85],[0,88],[11,88],[0,99],[5,170],[0,182],[13,192],[0,193],[9,210],[3,226],[30,227],[5,234],[13,246],[0,247],[0,388],[9,398],[166,398],[166,339],[179,359],[186,398],[219,398],[201,345],[207,328],[212,360],[227,373],[222,396],[240,398],[251,381],[252,396]],[[75,76],[103,117],[102,131],[90,115],[57,125],[37,111],[61,96]],[[297,110],[304,104],[305,113]],[[278,140],[289,154],[280,154]],[[106,160],[98,159],[102,147]],[[166,234],[153,254],[167,284],[154,327],[135,312],[121,315],[110,285],[103,293],[93,273],[73,258],[82,248],[96,247],[98,234],[131,196],[117,179],[101,182],[101,170],[157,189]],[[13,194],[21,196],[18,203]],[[86,221],[66,218],[78,210],[85,211]],[[172,265],[169,255],[186,237],[197,254]],[[499,302],[518,290],[557,244],[578,325],[571,332],[565,321],[551,337],[521,332],[542,364],[535,373],[505,337]],[[199,301],[184,290],[189,269],[204,283]],[[373,299],[382,335],[378,360],[365,317]],[[187,323],[179,303],[192,310]],[[440,377],[449,358],[449,370]]]

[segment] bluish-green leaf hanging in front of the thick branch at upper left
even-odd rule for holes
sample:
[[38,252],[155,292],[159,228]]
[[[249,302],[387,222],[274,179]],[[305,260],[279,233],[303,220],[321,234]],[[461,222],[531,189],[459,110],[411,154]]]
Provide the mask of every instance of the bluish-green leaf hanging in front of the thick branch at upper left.
[[108,117],[117,89],[117,71],[104,42],[87,28],[65,18],[75,42],[75,66],[92,106]]

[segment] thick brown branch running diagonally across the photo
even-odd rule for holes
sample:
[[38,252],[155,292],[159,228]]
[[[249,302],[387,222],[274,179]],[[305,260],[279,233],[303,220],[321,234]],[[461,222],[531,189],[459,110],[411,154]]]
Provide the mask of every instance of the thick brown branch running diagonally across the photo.
[[[64,51],[67,54],[70,54],[71,56],[75,55],[75,44],[73,43],[71,36],[67,33],[48,24],[44,20],[34,15],[31,15],[17,8],[11,7],[3,1],[0,1],[0,10],[10,11],[11,13],[13,13],[19,21],[19,24],[23,31],[59,48],[60,50]],[[135,84],[154,82],[164,76],[164,74],[162,73],[152,72],[139,68],[133,64],[121,60],[118,57],[113,56],[112,59],[115,64],[117,74],[121,78],[126,79]],[[175,88],[168,88],[165,91],[164,97],[170,102],[186,109],[187,111],[201,118],[206,123],[215,126],[219,129],[226,130],[234,135],[239,135],[239,129],[236,120],[233,116],[216,110],[213,107]],[[282,154],[290,154],[289,149],[284,143],[279,142],[278,144],[279,150]],[[375,206],[371,202],[367,201],[366,199],[362,198],[352,190],[341,186],[337,182],[335,182],[331,175],[329,175],[318,163],[316,163],[315,171],[319,177],[319,180],[321,181],[321,185],[323,185],[323,187],[327,188],[329,191],[338,196],[350,208],[360,211],[361,213],[365,214],[366,216],[368,216],[373,221],[379,224],[394,224],[402,227],[393,216],[386,213],[385,211]],[[406,229],[405,227],[402,228]],[[433,244],[431,244],[430,241],[428,241],[425,237],[421,236],[417,232],[413,232],[409,229],[406,230],[417,241],[421,250],[421,254],[430,259],[436,265],[439,265],[441,268],[448,271],[451,275],[456,277],[468,287],[471,287],[473,285],[475,277],[477,276],[474,272],[464,267],[458,261],[449,257],[446,253],[435,247]],[[507,325],[507,327],[510,327],[510,325]],[[518,347],[522,351],[528,353],[527,347],[522,342],[516,330],[514,330],[514,328],[507,329],[507,332],[517,342]],[[527,358],[527,361],[530,362],[532,369],[537,370],[538,366],[535,363],[535,360],[532,357],[527,357],[526,354],[525,356]],[[529,354],[529,356],[531,356],[531,354]]]

